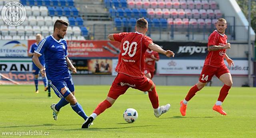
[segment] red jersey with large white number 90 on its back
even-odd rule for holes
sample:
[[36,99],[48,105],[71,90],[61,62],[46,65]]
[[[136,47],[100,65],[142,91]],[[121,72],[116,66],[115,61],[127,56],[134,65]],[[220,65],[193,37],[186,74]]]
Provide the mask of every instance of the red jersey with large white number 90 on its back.
[[121,42],[116,72],[132,77],[144,76],[144,55],[152,39],[139,32],[114,34],[115,41]]

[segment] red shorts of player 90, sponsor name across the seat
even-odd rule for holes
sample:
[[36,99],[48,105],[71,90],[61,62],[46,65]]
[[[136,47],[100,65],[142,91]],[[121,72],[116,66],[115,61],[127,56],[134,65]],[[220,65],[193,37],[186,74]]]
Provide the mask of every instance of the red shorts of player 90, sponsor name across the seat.
[[140,91],[148,91],[153,84],[153,81],[146,76],[131,77],[123,73],[118,73],[110,87],[108,97],[117,99],[120,95],[123,95],[129,87]]

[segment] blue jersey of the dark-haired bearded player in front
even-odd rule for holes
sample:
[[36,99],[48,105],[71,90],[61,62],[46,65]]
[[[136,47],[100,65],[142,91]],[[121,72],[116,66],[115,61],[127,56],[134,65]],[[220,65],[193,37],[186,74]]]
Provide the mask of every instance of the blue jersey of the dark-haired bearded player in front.
[[44,54],[46,76],[48,80],[57,81],[71,77],[66,57],[68,45],[64,39],[56,40],[52,35],[42,39],[34,51],[39,55]]

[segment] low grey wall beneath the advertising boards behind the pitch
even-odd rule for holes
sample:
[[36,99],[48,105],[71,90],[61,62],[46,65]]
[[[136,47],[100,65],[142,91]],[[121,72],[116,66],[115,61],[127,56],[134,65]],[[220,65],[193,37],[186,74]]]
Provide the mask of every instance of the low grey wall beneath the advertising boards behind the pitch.
[[[198,82],[199,75],[195,76],[157,76],[153,81],[156,85],[192,86]],[[111,85],[115,76],[110,75],[73,75],[75,85]],[[247,83],[247,77],[233,76],[233,86],[240,87]],[[217,78],[212,78],[212,86],[222,86],[223,83]]]

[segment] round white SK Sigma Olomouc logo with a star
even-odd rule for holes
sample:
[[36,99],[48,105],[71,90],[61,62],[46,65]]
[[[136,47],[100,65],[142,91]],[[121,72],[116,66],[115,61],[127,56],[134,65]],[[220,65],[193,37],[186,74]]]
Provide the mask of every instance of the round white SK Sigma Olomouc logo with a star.
[[26,19],[26,9],[20,2],[8,2],[2,8],[2,19],[9,26],[19,26]]

